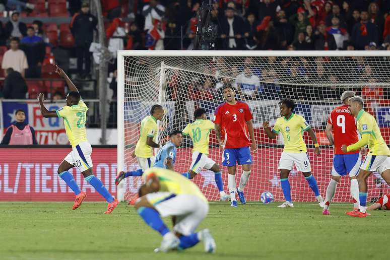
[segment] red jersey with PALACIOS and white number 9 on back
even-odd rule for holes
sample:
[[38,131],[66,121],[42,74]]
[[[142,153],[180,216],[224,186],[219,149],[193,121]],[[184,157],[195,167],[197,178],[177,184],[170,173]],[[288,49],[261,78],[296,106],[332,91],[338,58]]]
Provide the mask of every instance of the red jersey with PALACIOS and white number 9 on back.
[[[352,145],[359,141],[356,128],[356,119],[349,114],[348,105],[333,109],[328,118],[328,123],[333,126],[335,139],[335,154],[345,154],[341,151],[342,145]],[[359,150],[347,154],[357,154]]]

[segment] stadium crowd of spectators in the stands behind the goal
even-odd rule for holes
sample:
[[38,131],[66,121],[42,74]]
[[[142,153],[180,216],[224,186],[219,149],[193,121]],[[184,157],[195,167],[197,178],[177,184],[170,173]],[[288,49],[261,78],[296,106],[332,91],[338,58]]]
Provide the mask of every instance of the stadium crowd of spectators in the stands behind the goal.
[[[116,118],[116,51],[192,49],[202,2],[101,0],[108,49],[114,62],[109,64],[107,84],[113,93],[110,118]],[[215,48],[219,50],[390,50],[387,0],[214,0],[212,3],[211,23],[217,28]],[[95,78],[89,48],[98,33],[97,18],[90,12],[89,1],[0,1],[0,11],[9,15],[8,21],[0,24],[0,77],[5,77],[0,97],[36,98],[39,92],[45,92],[51,99],[63,98],[66,92],[63,81],[42,80],[56,78],[55,62],[78,80]],[[52,20],[47,22],[47,17]],[[58,20],[63,17],[69,23]],[[26,23],[27,18],[34,20]],[[63,57],[58,50],[64,49],[67,54]],[[77,59],[74,62],[77,69],[73,71],[69,69],[71,57]],[[381,59],[382,64],[388,62]],[[218,62],[228,63],[219,59],[216,68],[224,66]],[[231,84],[245,99],[280,99],[292,94],[301,100],[333,99],[346,89],[321,87],[320,83],[340,84],[345,75],[358,75],[371,83],[367,87],[348,87],[365,100],[376,102],[388,97],[386,86],[374,84],[378,75],[386,73],[383,66],[376,66],[379,62],[375,60],[346,58],[343,73],[331,66],[332,60],[324,58],[270,57],[238,63],[228,68],[232,73],[227,78],[216,69],[210,72],[214,77],[191,76],[186,86],[177,86],[177,81],[171,80],[170,98],[177,97],[178,89],[186,88],[196,99],[212,100],[220,95],[223,85]],[[280,85],[283,77],[291,82],[315,82],[319,87]],[[21,83],[14,84],[14,79]]]

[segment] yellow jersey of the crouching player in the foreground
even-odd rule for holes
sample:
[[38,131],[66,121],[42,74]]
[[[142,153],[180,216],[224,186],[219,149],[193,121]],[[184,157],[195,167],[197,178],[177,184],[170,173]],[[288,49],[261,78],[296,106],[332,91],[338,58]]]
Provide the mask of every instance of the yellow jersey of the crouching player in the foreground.
[[[193,183],[191,180],[187,179],[181,174],[162,168],[150,168],[142,174],[142,178],[145,183],[148,180],[148,176],[150,176],[151,174],[155,174],[160,181],[159,191],[167,191],[176,195],[192,194],[207,202],[206,197],[203,195],[197,184]],[[160,201],[159,198],[155,199],[150,203],[155,204],[158,201]]]

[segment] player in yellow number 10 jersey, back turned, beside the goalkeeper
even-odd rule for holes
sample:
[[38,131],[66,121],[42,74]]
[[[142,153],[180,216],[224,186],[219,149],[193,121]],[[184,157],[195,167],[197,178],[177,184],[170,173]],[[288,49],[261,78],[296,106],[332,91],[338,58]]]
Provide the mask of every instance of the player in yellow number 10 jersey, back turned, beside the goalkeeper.
[[209,154],[210,131],[214,129],[214,123],[207,119],[206,110],[203,108],[195,110],[193,115],[195,121],[187,124],[182,131],[183,135],[189,136],[193,143],[192,163],[186,176],[192,179],[202,169],[213,171],[221,201],[226,201],[229,197],[223,190],[221,168],[207,156]]

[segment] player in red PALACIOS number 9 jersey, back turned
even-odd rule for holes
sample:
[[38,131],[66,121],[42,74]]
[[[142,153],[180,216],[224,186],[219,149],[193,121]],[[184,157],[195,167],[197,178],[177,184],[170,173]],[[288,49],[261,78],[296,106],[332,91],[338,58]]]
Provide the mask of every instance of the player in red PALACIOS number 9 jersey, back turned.
[[[353,91],[345,91],[341,95],[342,106],[332,110],[328,118],[326,134],[330,145],[334,146],[332,178],[328,184],[327,193],[323,206],[323,215],[330,215],[330,204],[336,193],[336,186],[340,183],[341,176],[349,174],[351,180],[351,196],[354,208],[359,208],[359,184],[357,174],[361,165],[361,155],[359,150],[347,154],[341,151],[341,145],[351,145],[358,139],[355,117],[350,115],[348,110],[348,100],[356,95]],[[332,135],[332,130],[334,135]],[[364,152],[364,151],[362,151]]]

